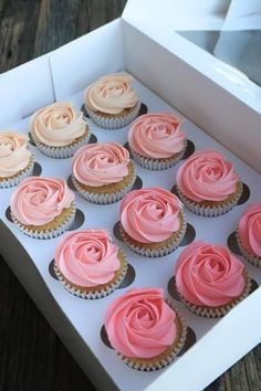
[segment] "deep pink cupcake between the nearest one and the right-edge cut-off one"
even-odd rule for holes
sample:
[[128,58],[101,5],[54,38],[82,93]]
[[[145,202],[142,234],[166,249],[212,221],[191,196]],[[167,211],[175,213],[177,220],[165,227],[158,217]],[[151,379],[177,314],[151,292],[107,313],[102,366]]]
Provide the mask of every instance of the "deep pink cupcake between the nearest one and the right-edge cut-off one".
[[203,241],[182,251],[175,274],[181,300],[192,313],[208,318],[226,315],[250,292],[242,262],[227,249]]

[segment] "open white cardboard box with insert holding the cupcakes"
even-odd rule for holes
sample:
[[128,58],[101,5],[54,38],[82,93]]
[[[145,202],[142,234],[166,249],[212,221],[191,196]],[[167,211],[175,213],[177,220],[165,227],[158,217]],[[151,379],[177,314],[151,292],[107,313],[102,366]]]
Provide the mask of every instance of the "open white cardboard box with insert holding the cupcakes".
[[[175,107],[182,113],[187,118],[184,128],[196,148],[211,146],[225,151],[250,188],[248,204],[258,201],[261,182],[254,169],[261,171],[259,91],[249,81],[234,82],[236,76],[231,80],[226,70],[220,72],[221,62],[175,33],[173,2],[164,0],[164,6],[166,22],[161,24],[158,14],[163,1],[128,1],[123,18],[2,74],[0,126],[28,131],[30,115],[54,101],[70,99],[80,108],[83,89],[90,82],[106,73],[126,70],[139,81],[135,86],[148,109],[176,113]],[[127,128],[105,133],[93,126],[93,133],[98,141],[115,139],[125,144],[127,140]],[[34,154],[42,166],[42,175],[69,177],[71,159],[53,160],[35,148]],[[138,175],[145,187],[160,184],[170,189],[176,170],[154,175],[138,168]],[[70,295],[49,273],[59,239],[35,241],[20,233],[8,220],[6,211],[12,191],[0,191],[0,251],[97,389],[200,390],[260,342],[260,288],[220,320],[201,319],[176,303],[195,330],[197,342],[165,370],[144,373],[127,368],[100,337],[108,303],[127,288],[117,289],[101,300],[83,300]],[[79,196],[76,203],[85,215],[84,228],[102,224],[112,231],[118,220],[118,203],[92,205]],[[228,215],[210,220],[190,212],[186,214],[196,228],[197,239],[226,245],[244,208],[246,204],[236,207]],[[167,293],[167,283],[181,249],[158,262],[140,262],[140,256],[126,246],[124,250],[136,271],[132,286],[161,286]],[[261,271],[247,263],[246,266],[258,285],[261,284]]]

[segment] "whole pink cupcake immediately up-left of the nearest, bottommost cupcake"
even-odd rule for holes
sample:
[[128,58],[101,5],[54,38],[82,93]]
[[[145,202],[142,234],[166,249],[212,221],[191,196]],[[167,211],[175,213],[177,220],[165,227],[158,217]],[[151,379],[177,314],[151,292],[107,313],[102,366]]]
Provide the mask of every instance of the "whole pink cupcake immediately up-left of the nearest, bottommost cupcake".
[[54,255],[54,271],[64,287],[82,298],[102,298],[122,283],[127,262],[104,230],[76,231],[64,236]]

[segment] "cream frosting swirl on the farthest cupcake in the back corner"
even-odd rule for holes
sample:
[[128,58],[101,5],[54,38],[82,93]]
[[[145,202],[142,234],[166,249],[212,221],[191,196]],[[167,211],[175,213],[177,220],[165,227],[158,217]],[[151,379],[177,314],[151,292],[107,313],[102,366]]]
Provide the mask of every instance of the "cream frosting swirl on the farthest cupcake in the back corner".
[[117,115],[125,108],[134,107],[137,94],[130,87],[133,76],[114,73],[92,83],[84,93],[85,105],[94,112]]

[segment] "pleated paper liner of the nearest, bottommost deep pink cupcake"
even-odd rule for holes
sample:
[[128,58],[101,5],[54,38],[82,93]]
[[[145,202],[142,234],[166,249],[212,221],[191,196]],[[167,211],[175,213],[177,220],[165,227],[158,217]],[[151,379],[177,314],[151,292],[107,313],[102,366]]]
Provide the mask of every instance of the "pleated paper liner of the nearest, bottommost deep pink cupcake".
[[164,357],[157,362],[149,362],[149,361],[137,362],[137,361],[135,361],[135,359],[132,359],[129,357],[126,357],[126,356],[117,352],[117,355],[121,357],[121,359],[132,369],[136,369],[139,371],[156,371],[158,369],[163,369],[166,366],[168,366],[170,362],[173,362],[174,359],[177,357],[177,355],[182,349],[185,341],[186,341],[186,337],[187,337],[187,325],[185,323],[184,317],[179,313],[179,310],[177,310],[177,308],[175,308],[173,306],[173,304],[168,303],[168,305],[175,310],[175,313],[180,321],[180,325],[181,325],[181,335],[179,337],[179,341],[178,341],[177,346],[174,348],[174,350],[166,358]]

